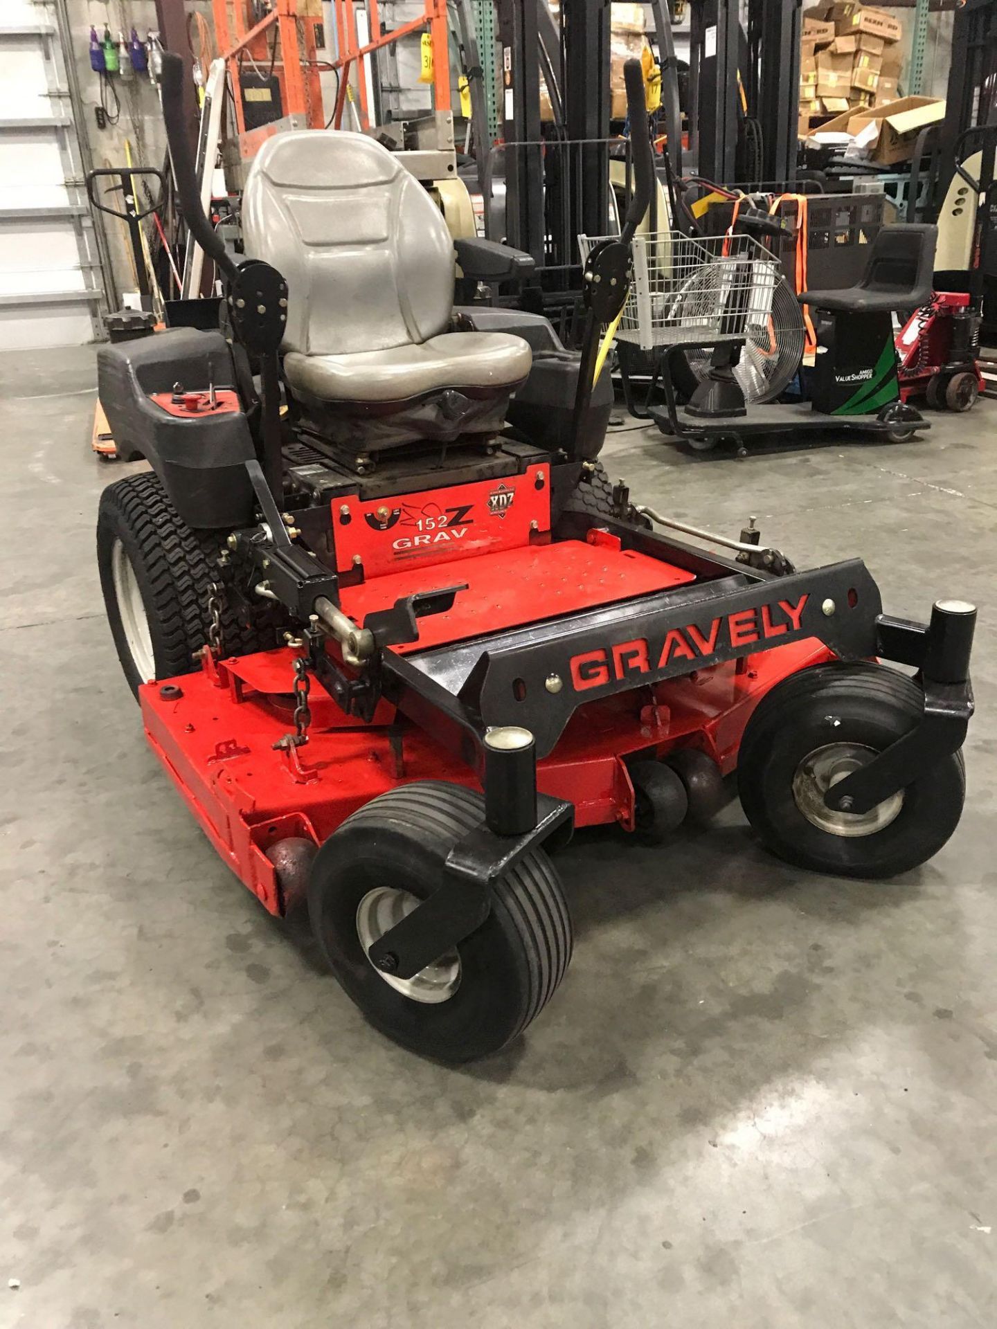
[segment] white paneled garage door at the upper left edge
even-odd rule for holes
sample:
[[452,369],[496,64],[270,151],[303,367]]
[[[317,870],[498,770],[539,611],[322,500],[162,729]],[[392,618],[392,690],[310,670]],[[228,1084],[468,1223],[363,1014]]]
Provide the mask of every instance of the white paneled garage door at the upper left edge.
[[53,7],[0,3],[0,350],[100,335],[100,263]]

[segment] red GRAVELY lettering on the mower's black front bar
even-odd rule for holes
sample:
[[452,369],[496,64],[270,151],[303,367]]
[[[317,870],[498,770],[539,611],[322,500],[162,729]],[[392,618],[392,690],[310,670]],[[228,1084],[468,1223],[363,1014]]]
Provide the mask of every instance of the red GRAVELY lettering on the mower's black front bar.
[[641,674],[658,672],[671,661],[702,661],[724,646],[739,650],[751,646],[752,642],[783,637],[790,631],[796,633],[808,599],[810,595],[803,594],[795,603],[780,599],[775,605],[722,614],[713,619],[709,629],[702,629],[697,623],[673,627],[665,634],[663,641],[637,637],[615,646],[582,651],[572,657],[572,683],[577,692],[584,692],[590,687],[604,687],[606,683],[622,682]]

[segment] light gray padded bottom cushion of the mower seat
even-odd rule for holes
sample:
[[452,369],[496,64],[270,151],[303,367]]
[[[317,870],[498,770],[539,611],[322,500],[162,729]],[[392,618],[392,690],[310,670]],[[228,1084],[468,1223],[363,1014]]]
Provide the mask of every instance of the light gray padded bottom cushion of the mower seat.
[[471,396],[508,392],[529,373],[533,352],[506,332],[443,332],[419,346],[355,355],[284,356],[292,389],[322,401],[405,401],[441,388]]

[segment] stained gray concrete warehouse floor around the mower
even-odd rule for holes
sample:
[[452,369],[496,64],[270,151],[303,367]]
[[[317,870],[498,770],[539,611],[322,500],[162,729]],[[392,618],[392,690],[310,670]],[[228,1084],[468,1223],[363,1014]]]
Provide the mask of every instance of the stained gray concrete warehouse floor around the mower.
[[667,851],[580,836],[564,986],[448,1071],[367,1029],[142,743],[92,363],[0,360],[0,1326],[994,1325],[997,407],[746,461],[613,437],[673,513],[861,554],[895,613],[980,603],[965,817],[887,885],[783,867],[736,804]]

